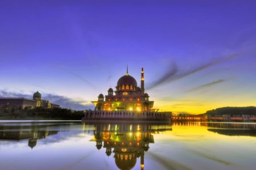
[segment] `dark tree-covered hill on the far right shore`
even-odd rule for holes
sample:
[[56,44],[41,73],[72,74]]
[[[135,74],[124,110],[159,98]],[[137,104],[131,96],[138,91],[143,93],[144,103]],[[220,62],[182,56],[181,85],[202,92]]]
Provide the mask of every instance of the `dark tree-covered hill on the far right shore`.
[[223,114],[256,115],[256,107],[224,107],[224,108],[217,108],[217,109],[213,109],[211,111],[207,111],[205,114],[209,114],[209,115],[223,115]]

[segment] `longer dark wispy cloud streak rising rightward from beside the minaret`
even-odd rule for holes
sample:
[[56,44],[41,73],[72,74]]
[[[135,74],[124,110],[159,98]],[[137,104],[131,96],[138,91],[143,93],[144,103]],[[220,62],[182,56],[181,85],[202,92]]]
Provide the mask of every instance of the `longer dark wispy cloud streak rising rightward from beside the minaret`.
[[166,73],[164,73],[162,76],[160,76],[160,78],[158,80],[156,80],[155,82],[152,82],[148,86],[148,89],[154,88],[154,87],[162,85],[162,84],[170,83],[174,80],[184,78],[185,76],[195,74],[199,71],[208,69],[208,67],[210,67],[210,66],[217,65],[219,63],[235,59],[238,56],[239,55],[236,54],[236,55],[230,55],[230,56],[226,56],[226,57],[222,57],[222,58],[216,58],[216,59],[213,59],[212,61],[209,61],[209,62],[204,63],[202,65],[193,67],[192,69],[189,69],[189,70],[186,70],[186,71],[180,71],[180,72],[178,71],[179,69],[177,68],[176,63],[171,63],[170,64],[170,69],[167,70]]

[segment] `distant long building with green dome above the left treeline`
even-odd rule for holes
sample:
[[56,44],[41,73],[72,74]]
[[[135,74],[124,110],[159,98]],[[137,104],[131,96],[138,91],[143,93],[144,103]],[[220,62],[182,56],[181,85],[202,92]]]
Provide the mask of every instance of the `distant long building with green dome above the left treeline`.
[[37,91],[33,95],[33,99],[25,97],[0,97],[0,108],[2,109],[33,109],[42,108],[59,108],[60,105],[53,104],[48,100],[42,100],[42,95]]

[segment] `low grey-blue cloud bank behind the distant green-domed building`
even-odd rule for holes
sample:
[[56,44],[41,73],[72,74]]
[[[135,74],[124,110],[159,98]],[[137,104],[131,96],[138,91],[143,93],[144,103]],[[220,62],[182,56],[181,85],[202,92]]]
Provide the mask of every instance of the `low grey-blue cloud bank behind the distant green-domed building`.
[[[10,92],[5,90],[0,90],[0,97],[26,97],[32,99],[32,94],[22,94],[19,92]],[[74,110],[84,110],[92,109],[92,104],[89,104],[89,101],[86,100],[74,100],[69,97],[53,95],[42,93],[43,100],[49,100],[51,103],[59,104],[62,108],[74,109]]]

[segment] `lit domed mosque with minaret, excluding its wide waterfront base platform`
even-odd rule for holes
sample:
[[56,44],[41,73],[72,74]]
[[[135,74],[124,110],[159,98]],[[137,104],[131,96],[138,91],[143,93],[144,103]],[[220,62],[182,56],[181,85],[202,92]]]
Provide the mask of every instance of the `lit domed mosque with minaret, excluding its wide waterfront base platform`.
[[[128,74],[119,78],[114,91],[109,88],[108,95],[98,95],[98,101],[92,101],[97,111],[150,111],[154,101],[149,100],[149,96],[144,90],[144,71],[141,70],[141,87],[137,81]],[[114,94],[115,93],[115,94]],[[105,100],[104,100],[105,98]]]

